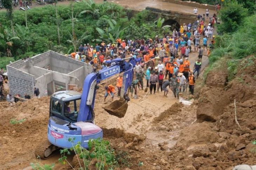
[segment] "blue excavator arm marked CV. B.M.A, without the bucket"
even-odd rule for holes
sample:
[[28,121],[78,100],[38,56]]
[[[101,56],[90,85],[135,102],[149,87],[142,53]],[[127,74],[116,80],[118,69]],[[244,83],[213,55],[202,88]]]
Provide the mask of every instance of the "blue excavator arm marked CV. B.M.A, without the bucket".
[[[128,62],[126,60],[129,60]],[[94,119],[94,102],[96,96],[97,84],[102,80],[108,79],[116,74],[123,73],[123,83],[122,83],[122,93],[121,97],[126,94],[127,89],[131,86],[133,80],[133,68],[136,64],[135,59],[125,58],[125,59],[113,59],[107,60],[106,64],[111,66],[108,68],[101,69],[99,72],[91,73],[86,76],[83,83],[83,92],[81,96],[81,103],[78,113],[79,121],[89,121],[92,122]]]

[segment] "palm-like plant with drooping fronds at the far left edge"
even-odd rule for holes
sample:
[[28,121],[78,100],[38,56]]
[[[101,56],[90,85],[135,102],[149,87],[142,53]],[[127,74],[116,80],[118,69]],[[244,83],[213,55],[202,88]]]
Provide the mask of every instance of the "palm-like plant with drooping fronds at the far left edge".
[[5,30],[0,25],[0,47],[5,50],[7,57],[12,57],[11,49],[13,46],[14,39],[20,39],[19,37],[13,36],[9,31]]

